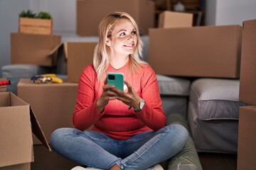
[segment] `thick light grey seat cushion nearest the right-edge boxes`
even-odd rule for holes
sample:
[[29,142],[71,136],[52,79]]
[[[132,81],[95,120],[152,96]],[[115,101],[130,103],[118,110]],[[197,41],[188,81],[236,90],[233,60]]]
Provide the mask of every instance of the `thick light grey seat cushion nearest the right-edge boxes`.
[[196,106],[201,120],[238,120],[238,79],[196,79],[191,84],[190,101]]

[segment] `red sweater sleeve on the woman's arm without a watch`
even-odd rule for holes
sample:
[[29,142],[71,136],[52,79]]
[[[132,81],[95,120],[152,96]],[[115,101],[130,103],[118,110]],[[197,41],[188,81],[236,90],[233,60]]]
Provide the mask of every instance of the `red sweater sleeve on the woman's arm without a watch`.
[[92,65],[85,67],[78,82],[78,95],[73,113],[73,124],[79,130],[90,128],[102,116],[95,99],[96,73]]

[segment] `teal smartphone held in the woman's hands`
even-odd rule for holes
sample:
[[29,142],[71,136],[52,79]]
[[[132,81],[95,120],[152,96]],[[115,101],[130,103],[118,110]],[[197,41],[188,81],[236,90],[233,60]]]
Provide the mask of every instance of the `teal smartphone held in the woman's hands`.
[[114,85],[120,91],[124,91],[124,74],[120,72],[108,72],[107,84]]

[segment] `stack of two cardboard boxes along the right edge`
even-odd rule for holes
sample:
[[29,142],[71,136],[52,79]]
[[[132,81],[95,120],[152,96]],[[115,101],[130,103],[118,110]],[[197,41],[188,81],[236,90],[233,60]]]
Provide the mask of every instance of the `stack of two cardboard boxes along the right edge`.
[[238,170],[254,169],[256,160],[256,20],[244,21],[239,99],[252,106],[240,107]]

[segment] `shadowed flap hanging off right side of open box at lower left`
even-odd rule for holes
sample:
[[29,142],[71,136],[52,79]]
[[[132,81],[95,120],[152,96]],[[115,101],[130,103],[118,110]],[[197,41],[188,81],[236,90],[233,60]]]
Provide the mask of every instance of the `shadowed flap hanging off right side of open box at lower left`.
[[31,114],[31,125],[32,125],[33,134],[36,135],[38,140],[40,140],[43,143],[43,145],[48,148],[49,152],[51,152],[52,149],[50,149],[50,145],[46,140],[46,135],[44,135],[41,125],[38,123],[38,120],[36,119],[36,115],[33,113],[33,110],[31,107],[30,107],[30,114]]

